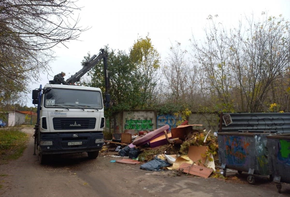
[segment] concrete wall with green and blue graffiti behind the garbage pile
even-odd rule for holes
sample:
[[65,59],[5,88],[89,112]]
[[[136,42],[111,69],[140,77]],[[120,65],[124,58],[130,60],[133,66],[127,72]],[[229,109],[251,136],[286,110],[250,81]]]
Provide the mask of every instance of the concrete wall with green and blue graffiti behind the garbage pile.
[[[189,124],[202,124],[202,128],[206,130],[218,131],[218,114],[199,114],[192,113],[189,116]],[[171,114],[158,115],[155,111],[136,110],[136,111],[123,111],[115,113],[110,119],[106,119],[106,128],[104,131],[110,133],[131,131],[152,131],[160,128],[166,124],[171,128],[177,127],[177,121],[180,117]]]

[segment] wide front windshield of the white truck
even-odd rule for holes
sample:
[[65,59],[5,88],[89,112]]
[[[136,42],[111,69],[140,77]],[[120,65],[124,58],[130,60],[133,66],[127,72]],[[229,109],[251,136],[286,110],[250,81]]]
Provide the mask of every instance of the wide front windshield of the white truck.
[[[73,89],[52,89],[44,94],[46,108],[88,108],[102,109],[101,92]],[[86,107],[90,106],[90,107]]]

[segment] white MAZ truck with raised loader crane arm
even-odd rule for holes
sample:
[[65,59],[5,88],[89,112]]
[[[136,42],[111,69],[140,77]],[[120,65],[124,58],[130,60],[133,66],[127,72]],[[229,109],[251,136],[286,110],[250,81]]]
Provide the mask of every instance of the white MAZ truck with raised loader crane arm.
[[100,49],[98,56],[87,60],[80,71],[66,80],[75,84],[103,59],[104,100],[100,88],[54,84],[53,81],[32,91],[32,103],[37,106],[34,155],[38,150],[41,164],[53,154],[87,152],[90,159],[98,157],[104,143],[104,107],[110,103],[107,58],[106,51]]

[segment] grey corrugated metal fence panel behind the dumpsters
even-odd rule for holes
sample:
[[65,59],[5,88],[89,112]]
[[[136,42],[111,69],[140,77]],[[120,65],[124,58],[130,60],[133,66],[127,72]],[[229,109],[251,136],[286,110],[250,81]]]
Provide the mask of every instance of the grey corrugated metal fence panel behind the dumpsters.
[[232,123],[228,126],[223,119],[224,115],[226,113],[221,114],[219,132],[253,130],[290,133],[290,113],[229,113]]

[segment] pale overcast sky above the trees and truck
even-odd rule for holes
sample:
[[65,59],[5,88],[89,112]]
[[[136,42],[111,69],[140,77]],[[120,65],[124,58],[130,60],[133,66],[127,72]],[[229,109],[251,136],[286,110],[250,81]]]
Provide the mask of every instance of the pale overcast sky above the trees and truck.
[[[189,49],[189,39],[204,38],[204,28],[208,24],[209,14],[218,14],[218,21],[226,28],[237,27],[244,16],[261,17],[263,11],[268,15],[282,14],[290,19],[290,0],[207,0],[207,1],[95,1],[79,0],[80,23],[91,27],[83,32],[79,40],[72,40],[67,47],[55,47],[57,59],[50,63],[51,72],[47,78],[41,74],[41,80],[30,84],[30,88],[39,88],[61,71],[66,72],[65,80],[81,69],[81,60],[90,52],[98,54],[99,49],[109,45],[112,49],[126,50],[133,46],[138,35],[143,38],[149,32],[152,44],[160,53],[162,60],[167,56],[170,41],[178,41],[182,48]],[[75,13],[77,16],[78,13]],[[70,73],[70,74],[69,74]],[[33,106],[31,94],[27,95],[27,106]]]

